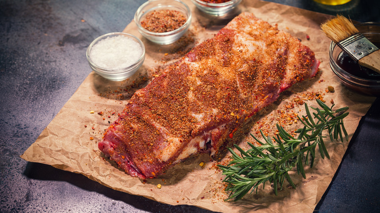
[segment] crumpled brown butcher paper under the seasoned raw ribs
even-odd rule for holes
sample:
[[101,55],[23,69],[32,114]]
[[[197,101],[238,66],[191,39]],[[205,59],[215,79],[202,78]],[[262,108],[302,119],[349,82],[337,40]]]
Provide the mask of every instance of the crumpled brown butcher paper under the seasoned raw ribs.
[[[197,10],[190,0],[183,1],[189,5],[193,15],[188,33],[174,44],[160,46],[142,38],[134,22],[128,24],[123,32],[138,36],[146,47],[143,67],[130,79],[121,82],[108,81],[91,72],[21,158],[80,173],[114,190],[171,205],[193,205],[216,212],[312,212],[342,160],[348,145],[346,141],[326,140],[330,159],[322,159],[317,153],[314,167],[305,168],[305,179],[296,172],[292,173],[296,189],[285,180],[278,195],[274,195],[272,186],[266,184],[257,194],[246,195],[239,201],[224,201],[228,193],[224,192],[223,175],[216,165],[228,160],[227,152],[222,152],[220,159],[215,160],[210,160],[207,154],[195,155],[176,164],[159,178],[142,180],[118,169],[98,150],[97,143],[102,140],[104,130],[116,120],[136,89],[144,87],[160,74],[163,67],[211,38],[229,20],[244,11],[272,25],[278,24],[280,30],[301,39],[314,51],[321,65],[316,77],[284,92],[278,101],[254,116],[247,129],[237,132],[232,142],[247,148],[247,142],[254,142],[248,133],[258,136],[260,128],[270,135],[275,132],[275,124],[286,120],[286,116],[295,113],[305,115],[304,105],[294,104],[294,100],[301,99],[308,106],[317,106],[316,97],[322,98],[328,106],[335,103],[336,108],[350,107],[350,114],[344,122],[351,139],[361,117],[375,100],[345,88],[331,71],[328,65],[330,40],[319,27],[331,18],[329,15],[259,0],[243,0],[233,15],[210,18]],[[334,92],[326,91],[329,86],[334,88]],[[299,128],[300,122],[291,120],[284,125],[287,130],[292,130]]]

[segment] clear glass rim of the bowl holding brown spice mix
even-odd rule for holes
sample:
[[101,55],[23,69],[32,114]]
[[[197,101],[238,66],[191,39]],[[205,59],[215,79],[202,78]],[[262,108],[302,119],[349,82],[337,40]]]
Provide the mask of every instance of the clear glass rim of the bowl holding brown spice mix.
[[[174,35],[174,34],[177,34],[185,29],[188,28],[188,26],[190,25],[191,23],[191,19],[192,19],[192,15],[191,15],[191,10],[189,8],[189,6],[181,1],[181,0],[171,0],[171,1],[176,1],[178,3],[181,3],[184,8],[185,8],[185,11],[186,11],[186,14],[187,15],[187,19],[186,19],[186,22],[180,26],[179,28],[175,29],[175,30],[172,30],[172,31],[168,31],[168,32],[163,32],[163,33],[155,33],[155,32],[152,32],[152,31],[149,31],[145,28],[143,28],[140,24],[140,19],[143,17],[143,14],[141,14],[141,11],[149,4],[153,3],[153,2],[157,2],[157,1],[161,1],[161,0],[148,0],[147,2],[143,3],[140,5],[140,7],[137,9],[137,11],[134,13],[134,22],[136,23],[137,25],[137,28],[139,30],[141,30],[144,34],[147,34],[147,35],[153,35],[153,36],[165,36],[165,35]],[[159,4],[155,7],[152,7],[151,9],[149,9],[148,11],[153,11],[154,9],[157,9],[157,8],[175,8],[176,6],[173,6],[173,5],[170,5],[170,4]],[[146,13],[147,11],[145,11],[144,13]],[[140,15],[141,14],[141,15]]]

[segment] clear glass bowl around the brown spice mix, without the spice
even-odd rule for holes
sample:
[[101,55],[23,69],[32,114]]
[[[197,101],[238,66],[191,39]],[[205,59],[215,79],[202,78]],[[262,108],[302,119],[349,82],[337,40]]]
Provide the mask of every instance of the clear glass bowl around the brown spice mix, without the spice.
[[[176,10],[181,12],[187,19],[181,27],[164,33],[155,33],[141,26],[141,21],[149,12],[155,10]],[[171,44],[178,40],[189,29],[191,23],[191,11],[187,4],[180,0],[149,0],[143,3],[134,14],[134,22],[141,35],[157,44]]]

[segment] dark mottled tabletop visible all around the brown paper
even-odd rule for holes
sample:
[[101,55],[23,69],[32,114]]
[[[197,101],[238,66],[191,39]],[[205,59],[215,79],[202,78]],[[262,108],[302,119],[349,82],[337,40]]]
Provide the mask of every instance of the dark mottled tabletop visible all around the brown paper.
[[[378,0],[307,10],[379,21]],[[82,175],[19,158],[91,72],[86,48],[122,31],[144,0],[0,0],[0,212],[209,212],[114,191]],[[318,212],[380,212],[380,99],[361,119]]]

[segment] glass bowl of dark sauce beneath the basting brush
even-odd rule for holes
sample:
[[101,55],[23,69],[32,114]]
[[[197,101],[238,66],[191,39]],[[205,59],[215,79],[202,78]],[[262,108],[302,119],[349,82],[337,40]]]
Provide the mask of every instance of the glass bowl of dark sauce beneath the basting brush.
[[[380,44],[380,22],[365,22],[356,24],[355,27],[372,43],[375,45]],[[334,42],[330,44],[329,54],[330,67],[342,81],[343,85],[367,95],[380,96],[379,73],[372,70],[368,71],[366,68],[361,69],[357,64],[344,65],[342,62],[344,59],[343,56],[346,53],[342,52],[342,49]],[[358,69],[354,69],[353,71],[352,68],[354,68],[354,66],[358,66]],[[344,67],[344,69],[342,67]]]

